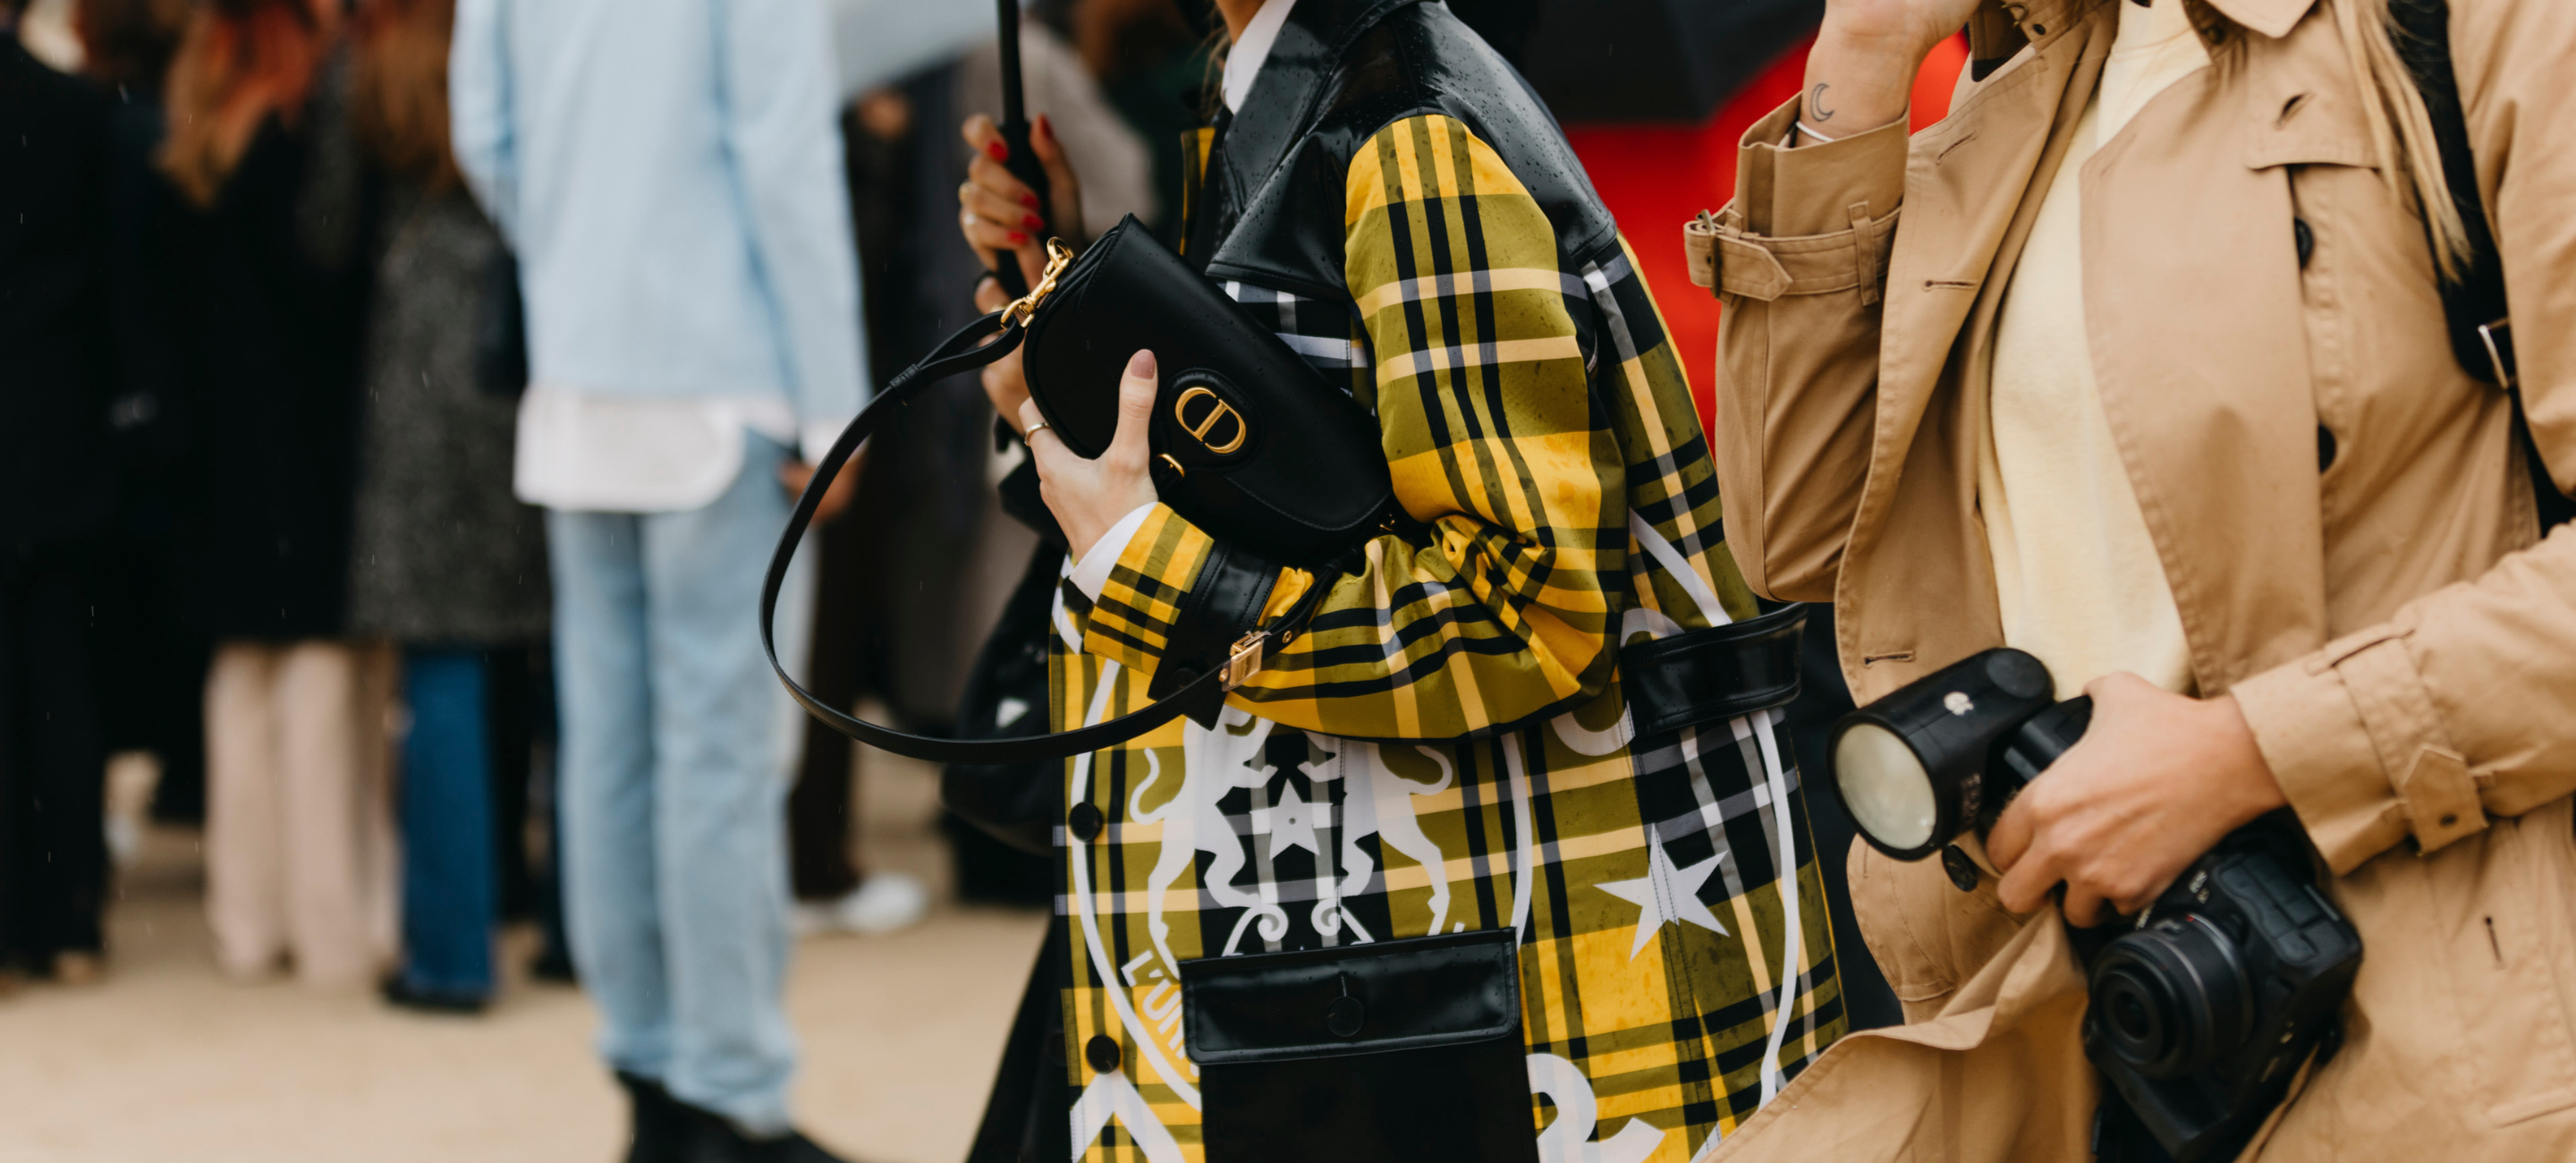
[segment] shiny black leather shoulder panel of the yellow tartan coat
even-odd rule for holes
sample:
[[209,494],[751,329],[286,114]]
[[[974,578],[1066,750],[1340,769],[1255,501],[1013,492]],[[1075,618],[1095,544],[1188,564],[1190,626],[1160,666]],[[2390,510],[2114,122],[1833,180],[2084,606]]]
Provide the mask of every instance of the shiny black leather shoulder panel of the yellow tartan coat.
[[1218,150],[1221,242],[1208,276],[1345,297],[1350,160],[1419,113],[1453,116],[1494,147],[1548,214],[1558,253],[1589,255],[1615,237],[1556,116],[1448,5],[1298,0]]

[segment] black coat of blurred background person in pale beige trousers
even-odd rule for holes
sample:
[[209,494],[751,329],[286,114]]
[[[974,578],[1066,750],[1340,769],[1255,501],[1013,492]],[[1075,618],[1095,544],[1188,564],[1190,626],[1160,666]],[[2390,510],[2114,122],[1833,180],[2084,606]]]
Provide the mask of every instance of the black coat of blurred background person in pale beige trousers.
[[368,214],[335,90],[268,119],[216,193],[175,193],[162,327],[191,428],[193,614],[219,640],[330,637],[348,598]]

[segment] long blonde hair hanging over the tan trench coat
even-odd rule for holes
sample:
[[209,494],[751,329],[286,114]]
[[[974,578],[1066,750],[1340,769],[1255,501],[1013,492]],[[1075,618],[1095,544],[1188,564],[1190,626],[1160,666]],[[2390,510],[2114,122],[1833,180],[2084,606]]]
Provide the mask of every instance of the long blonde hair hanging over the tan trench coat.
[[[2334,18],[2334,31],[2344,41],[2352,75],[2365,85],[2362,116],[2370,121],[2370,147],[2380,162],[2380,178],[2401,204],[2424,217],[2432,235],[2434,263],[2445,279],[2458,279],[2468,268],[2468,227],[2460,222],[2460,204],[2450,196],[2442,173],[2442,150],[2434,144],[2432,111],[2416,88],[2406,57],[2398,54],[2398,31],[2388,18],[2388,0],[2321,0]],[[2228,57],[2241,57],[2244,28],[2210,8],[2208,0],[2184,0],[2192,23],[2218,23],[2228,28]]]

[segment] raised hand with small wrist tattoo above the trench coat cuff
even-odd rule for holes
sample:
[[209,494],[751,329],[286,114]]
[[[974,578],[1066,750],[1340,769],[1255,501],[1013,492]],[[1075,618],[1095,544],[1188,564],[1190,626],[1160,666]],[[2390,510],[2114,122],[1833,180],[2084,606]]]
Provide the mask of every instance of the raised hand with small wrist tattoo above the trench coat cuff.
[[1984,3],[1994,0],[1826,0],[1798,121],[1842,139],[1906,116],[1924,57]]

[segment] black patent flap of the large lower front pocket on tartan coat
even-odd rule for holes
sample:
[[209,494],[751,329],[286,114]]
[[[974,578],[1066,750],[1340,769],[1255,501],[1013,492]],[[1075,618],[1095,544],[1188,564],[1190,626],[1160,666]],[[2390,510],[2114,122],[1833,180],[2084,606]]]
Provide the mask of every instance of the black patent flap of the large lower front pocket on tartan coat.
[[1489,1042],[1520,1029],[1520,933],[1203,957],[1180,962],[1180,1008],[1200,1065]]

